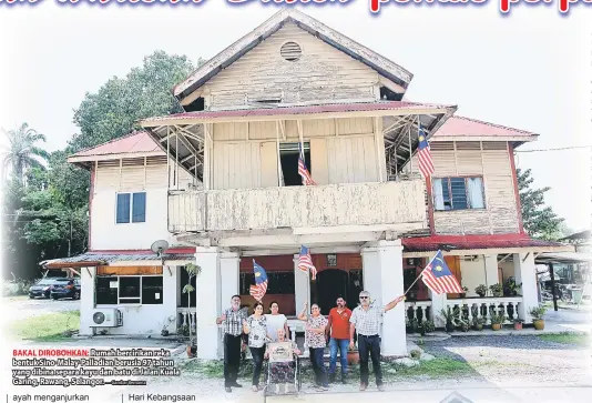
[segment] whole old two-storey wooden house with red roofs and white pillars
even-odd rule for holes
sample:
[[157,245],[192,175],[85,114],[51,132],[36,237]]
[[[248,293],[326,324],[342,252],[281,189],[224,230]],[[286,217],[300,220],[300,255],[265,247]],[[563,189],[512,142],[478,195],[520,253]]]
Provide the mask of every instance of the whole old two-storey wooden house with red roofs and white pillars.
[[[385,355],[406,354],[406,319],[438,321],[441,309],[472,319],[494,308],[528,322],[538,304],[534,254],[565,250],[529,239],[521,224],[513,150],[537,135],[407,101],[411,78],[283,10],[174,88],[184,113],[143,120],[144,132],[72,155],[92,172],[90,252],[47,266],[83,268],[81,333],[101,329],[92,313],[104,308],[122,313],[111,333],[196,321],[198,356],[213,359],[221,310],[233,294],[254,302],[253,260],[269,276],[264,303],[278,301],[290,316],[305,301],[328,313],[337,295],[353,308],[363,289],[389,302],[438,250],[469,298],[416,283],[406,306],[385,316]],[[419,123],[436,169],[428,180],[414,157]],[[315,185],[302,183],[300,152]],[[159,239],[172,245],[163,261],[146,251]],[[315,281],[297,269],[302,245]],[[187,311],[190,261],[202,272]],[[477,285],[512,278],[517,295],[471,298]]]

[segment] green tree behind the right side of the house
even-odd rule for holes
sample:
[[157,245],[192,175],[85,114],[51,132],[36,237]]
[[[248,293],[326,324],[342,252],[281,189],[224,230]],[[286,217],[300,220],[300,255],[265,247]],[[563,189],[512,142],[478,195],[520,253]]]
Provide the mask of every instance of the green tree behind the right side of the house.
[[527,233],[541,240],[555,240],[561,238],[563,219],[559,218],[551,206],[544,204],[544,193],[551,188],[532,189],[534,179],[531,170],[516,170],[518,175],[518,192],[522,206],[522,222]]

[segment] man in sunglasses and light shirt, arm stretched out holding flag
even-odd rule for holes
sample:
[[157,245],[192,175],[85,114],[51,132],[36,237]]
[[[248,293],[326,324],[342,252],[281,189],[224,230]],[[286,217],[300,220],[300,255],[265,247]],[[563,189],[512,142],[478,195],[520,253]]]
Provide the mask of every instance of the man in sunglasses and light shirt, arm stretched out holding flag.
[[400,295],[385,306],[371,306],[370,293],[363,291],[359,293],[360,305],[351,313],[349,320],[349,347],[354,349],[354,334],[358,332],[358,351],[359,351],[359,390],[365,391],[368,387],[368,355],[372,359],[374,373],[376,375],[376,385],[379,391],[384,391],[382,371],[380,370],[380,337],[378,333],[382,324],[382,315],[390,311],[399,302],[405,300]]

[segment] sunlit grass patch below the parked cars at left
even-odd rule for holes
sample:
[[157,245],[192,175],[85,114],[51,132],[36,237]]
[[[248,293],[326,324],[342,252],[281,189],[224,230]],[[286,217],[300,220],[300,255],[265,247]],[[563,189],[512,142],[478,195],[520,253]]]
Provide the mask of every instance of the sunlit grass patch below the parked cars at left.
[[30,316],[9,324],[10,334],[22,340],[57,341],[69,339],[64,332],[80,326],[80,311],[55,312]]

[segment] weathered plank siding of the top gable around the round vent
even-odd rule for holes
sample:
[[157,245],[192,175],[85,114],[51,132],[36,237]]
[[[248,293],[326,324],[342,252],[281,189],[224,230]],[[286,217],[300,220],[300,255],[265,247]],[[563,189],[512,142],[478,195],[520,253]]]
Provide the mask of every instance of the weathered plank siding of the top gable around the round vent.
[[[300,47],[298,60],[282,57],[286,42]],[[206,105],[215,110],[252,107],[255,100],[274,98],[282,98],[284,103],[376,100],[374,87],[378,82],[376,71],[288,22],[201,90]]]

